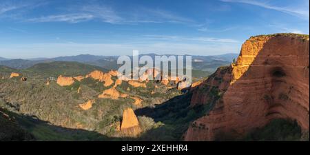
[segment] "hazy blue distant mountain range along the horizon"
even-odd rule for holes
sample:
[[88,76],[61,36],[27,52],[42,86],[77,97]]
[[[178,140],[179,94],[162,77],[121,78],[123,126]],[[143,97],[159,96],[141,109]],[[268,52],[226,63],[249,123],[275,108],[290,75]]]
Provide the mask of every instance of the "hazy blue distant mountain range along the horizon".
[[[157,54],[141,54],[140,56],[152,56],[154,59]],[[167,56],[171,56],[167,55]],[[222,65],[227,65],[238,57],[238,54],[223,54],[216,56],[192,56],[192,66],[194,70],[203,70],[214,72],[216,68]],[[38,63],[50,63],[55,61],[71,61],[85,63],[88,65],[95,65],[107,70],[116,70],[118,56],[95,56],[90,54],[81,54],[77,56],[60,56],[52,59],[37,58],[37,59],[6,59],[0,57],[0,65],[7,66],[14,69],[31,68]]]

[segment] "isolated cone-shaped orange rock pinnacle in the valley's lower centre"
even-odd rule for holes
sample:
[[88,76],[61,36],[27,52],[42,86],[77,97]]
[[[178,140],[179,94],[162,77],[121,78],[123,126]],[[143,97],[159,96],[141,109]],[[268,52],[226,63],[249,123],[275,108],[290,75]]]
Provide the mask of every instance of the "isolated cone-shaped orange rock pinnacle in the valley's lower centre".
[[123,121],[121,122],[121,132],[124,136],[138,136],[142,132],[141,127],[134,114],[134,110],[128,108],[123,112]]

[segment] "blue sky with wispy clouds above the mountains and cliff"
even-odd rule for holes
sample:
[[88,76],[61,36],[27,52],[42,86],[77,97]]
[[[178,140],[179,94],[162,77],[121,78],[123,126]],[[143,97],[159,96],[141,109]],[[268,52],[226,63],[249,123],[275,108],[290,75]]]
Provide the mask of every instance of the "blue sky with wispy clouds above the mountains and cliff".
[[1,0],[0,56],[238,53],[251,36],[309,34],[308,0]]

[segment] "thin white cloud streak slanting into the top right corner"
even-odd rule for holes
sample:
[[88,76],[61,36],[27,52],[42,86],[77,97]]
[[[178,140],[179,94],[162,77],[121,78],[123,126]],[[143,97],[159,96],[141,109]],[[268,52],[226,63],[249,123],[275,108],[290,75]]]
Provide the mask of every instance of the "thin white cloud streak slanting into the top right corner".
[[268,3],[268,1],[258,1],[258,0],[220,0],[220,1],[232,2],[232,3],[247,3],[249,5],[260,6],[262,8],[267,8],[270,10],[285,12],[287,14],[291,14],[296,17],[301,17],[303,19],[309,19],[309,0],[299,1],[302,2],[300,6],[276,6]]

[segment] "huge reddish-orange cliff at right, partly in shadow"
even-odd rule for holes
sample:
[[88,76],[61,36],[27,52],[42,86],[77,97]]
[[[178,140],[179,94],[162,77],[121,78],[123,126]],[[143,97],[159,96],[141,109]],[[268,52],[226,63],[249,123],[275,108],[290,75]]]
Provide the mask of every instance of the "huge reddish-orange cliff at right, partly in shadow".
[[192,106],[213,104],[190,125],[185,141],[243,136],[275,118],[309,131],[309,36],[251,37],[236,64],[219,68],[193,90]]

